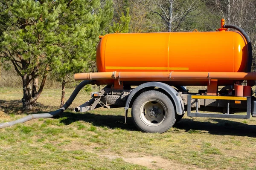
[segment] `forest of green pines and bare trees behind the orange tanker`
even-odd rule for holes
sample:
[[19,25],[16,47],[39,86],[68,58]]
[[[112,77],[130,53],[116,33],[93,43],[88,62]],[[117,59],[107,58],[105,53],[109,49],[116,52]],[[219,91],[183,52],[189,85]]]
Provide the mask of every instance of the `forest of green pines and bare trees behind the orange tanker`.
[[256,0],[1,0],[0,87],[22,88],[23,110],[61,88],[62,105],[74,73],[96,72],[99,35],[215,31],[221,18],[249,35],[254,71]]

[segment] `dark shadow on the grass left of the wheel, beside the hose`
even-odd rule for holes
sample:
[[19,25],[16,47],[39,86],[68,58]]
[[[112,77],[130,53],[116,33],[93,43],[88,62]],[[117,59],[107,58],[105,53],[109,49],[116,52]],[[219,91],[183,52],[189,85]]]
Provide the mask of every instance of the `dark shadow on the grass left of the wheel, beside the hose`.
[[64,112],[61,116],[67,117],[67,119],[60,121],[65,125],[69,125],[76,121],[84,121],[98,127],[108,127],[111,129],[121,128],[124,130],[138,131],[132,123],[131,118],[128,118],[128,123],[125,124],[125,117],[122,115],[98,115],[90,112],[84,114]]

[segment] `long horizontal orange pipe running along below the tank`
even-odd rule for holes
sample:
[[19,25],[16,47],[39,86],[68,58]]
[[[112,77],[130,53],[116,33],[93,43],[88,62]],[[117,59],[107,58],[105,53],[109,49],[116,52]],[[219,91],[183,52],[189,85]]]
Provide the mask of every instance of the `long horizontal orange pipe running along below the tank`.
[[75,80],[209,81],[256,80],[256,72],[94,72],[75,74]]

